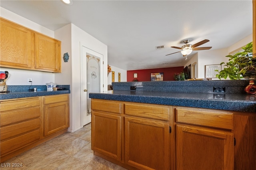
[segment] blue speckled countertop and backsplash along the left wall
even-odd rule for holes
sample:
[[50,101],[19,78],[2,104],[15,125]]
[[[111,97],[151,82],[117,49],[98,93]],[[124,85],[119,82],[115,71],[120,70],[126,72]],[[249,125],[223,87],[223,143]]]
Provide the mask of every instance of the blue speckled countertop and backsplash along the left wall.
[[[37,91],[29,91],[29,89],[37,88]],[[0,93],[0,100],[16,99],[24,97],[37,97],[48,95],[60,95],[70,93],[70,85],[57,85],[56,87],[64,87],[65,90],[47,91],[46,85],[8,85],[9,93]]]

